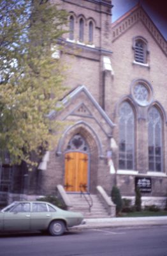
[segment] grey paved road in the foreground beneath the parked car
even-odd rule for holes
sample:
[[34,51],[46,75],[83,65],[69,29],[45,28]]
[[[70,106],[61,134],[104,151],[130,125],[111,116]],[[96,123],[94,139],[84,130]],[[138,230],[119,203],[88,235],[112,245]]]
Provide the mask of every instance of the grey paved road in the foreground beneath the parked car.
[[0,236],[1,256],[167,256],[167,226]]

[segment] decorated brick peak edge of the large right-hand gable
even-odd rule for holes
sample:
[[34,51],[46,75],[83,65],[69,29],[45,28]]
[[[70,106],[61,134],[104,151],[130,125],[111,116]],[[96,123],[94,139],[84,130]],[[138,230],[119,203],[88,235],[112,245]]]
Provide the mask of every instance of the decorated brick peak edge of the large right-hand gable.
[[124,34],[127,29],[131,28],[138,21],[142,21],[143,25],[149,30],[150,34],[156,40],[159,47],[162,49],[164,54],[167,55],[167,44],[164,36],[161,34],[159,29],[157,29],[154,22],[150,19],[147,12],[143,9],[140,4],[134,6],[131,10],[126,12],[122,17],[118,20],[115,20],[112,24],[112,38],[113,42],[119,38],[122,34]]

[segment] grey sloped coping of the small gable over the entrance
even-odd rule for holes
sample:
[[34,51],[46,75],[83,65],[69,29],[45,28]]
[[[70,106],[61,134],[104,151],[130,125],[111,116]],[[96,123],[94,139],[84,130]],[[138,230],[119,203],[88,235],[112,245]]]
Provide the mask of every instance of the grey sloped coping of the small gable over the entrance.
[[87,97],[89,98],[89,100],[91,100],[92,104],[98,110],[98,112],[101,114],[101,116],[105,119],[106,123],[108,125],[110,125],[110,127],[115,126],[115,124],[113,124],[112,120],[110,120],[108,115],[106,115],[105,111],[101,108],[101,106],[99,106],[98,102],[94,99],[94,97],[91,95],[89,90],[87,90],[87,88],[84,85],[78,86],[77,88],[75,88],[75,90],[73,90],[68,95],[66,95],[66,97],[64,97],[64,99],[62,99],[61,103],[64,106],[67,106],[68,104],[70,104],[72,99],[75,99],[75,97],[78,97],[78,95],[82,92],[84,92],[85,95],[87,95]]

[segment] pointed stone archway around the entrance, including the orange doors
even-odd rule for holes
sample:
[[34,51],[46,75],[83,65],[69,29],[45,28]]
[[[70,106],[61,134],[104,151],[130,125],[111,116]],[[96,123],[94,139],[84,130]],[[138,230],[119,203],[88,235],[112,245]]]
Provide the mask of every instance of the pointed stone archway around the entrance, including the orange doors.
[[[98,163],[99,163],[99,157],[101,156],[101,145],[99,145],[98,136],[94,132],[92,132],[91,129],[89,130],[89,127],[84,127],[83,125],[77,125],[77,126],[71,127],[71,129],[69,129],[68,132],[66,132],[66,134],[64,135],[65,135],[64,140],[61,144],[62,145],[61,150],[62,152],[64,152],[63,154],[64,155],[64,175],[63,175],[64,188],[71,193],[77,192],[78,191],[77,182],[80,182],[83,185],[85,184],[87,185],[87,190],[90,193],[96,193],[96,186],[98,185]],[[84,143],[82,145],[78,144],[75,147],[71,148],[70,143],[73,140],[73,138],[76,138],[75,137],[76,135],[80,136],[78,138],[82,138],[83,141],[85,141],[85,144]],[[86,150],[84,148],[85,146],[83,145],[87,145]],[[75,158],[75,159],[69,159],[69,158]],[[68,161],[71,161],[71,164],[67,163]],[[75,189],[73,187],[70,188],[70,186],[74,186],[74,185],[71,184],[71,180],[70,182],[68,182],[68,178],[66,177],[66,175],[68,175],[66,174],[68,172],[67,164],[69,164],[69,168],[74,169],[73,172],[75,173],[79,172],[77,168],[80,168],[81,173],[79,178],[76,177],[76,175],[79,175],[79,174],[75,174],[75,173],[73,173],[73,175],[71,173],[71,177],[69,178],[71,180],[78,179],[78,181],[75,181]],[[74,183],[74,180],[73,180],[73,183]],[[69,185],[69,188],[67,189],[68,185]]]

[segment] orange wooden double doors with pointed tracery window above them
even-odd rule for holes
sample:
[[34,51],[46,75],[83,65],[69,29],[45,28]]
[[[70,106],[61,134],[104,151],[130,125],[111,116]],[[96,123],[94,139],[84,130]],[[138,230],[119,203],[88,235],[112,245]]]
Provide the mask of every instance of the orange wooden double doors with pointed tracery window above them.
[[89,146],[80,134],[75,134],[65,152],[64,187],[68,192],[89,191]]

